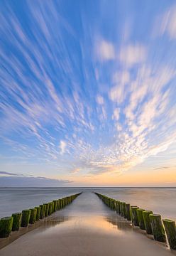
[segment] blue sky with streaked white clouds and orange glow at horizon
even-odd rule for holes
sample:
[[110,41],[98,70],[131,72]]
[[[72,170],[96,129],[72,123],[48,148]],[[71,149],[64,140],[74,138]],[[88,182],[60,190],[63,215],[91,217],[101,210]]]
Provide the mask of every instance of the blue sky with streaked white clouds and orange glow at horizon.
[[176,186],[175,0],[0,9],[0,186]]

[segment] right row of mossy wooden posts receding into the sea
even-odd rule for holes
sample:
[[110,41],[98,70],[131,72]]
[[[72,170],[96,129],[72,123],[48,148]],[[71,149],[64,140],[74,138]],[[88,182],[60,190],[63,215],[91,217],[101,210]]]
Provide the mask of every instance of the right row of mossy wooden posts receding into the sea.
[[160,242],[169,242],[170,248],[176,250],[176,226],[175,221],[164,219],[161,215],[153,214],[152,210],[144,210],[130,203],[121,202],[114,198],[95,193],[101,200],[116,213],[131,221],[134,226],[145,230],[148,235]]

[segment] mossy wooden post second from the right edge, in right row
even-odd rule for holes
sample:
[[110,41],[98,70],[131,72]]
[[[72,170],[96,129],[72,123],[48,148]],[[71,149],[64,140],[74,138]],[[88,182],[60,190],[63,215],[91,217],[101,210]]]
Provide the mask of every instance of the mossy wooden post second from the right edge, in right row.
[[160,242],[165,242],[165,230],[163,228],[161,216],[159,214],[150,214],[149,218],[154,239]]

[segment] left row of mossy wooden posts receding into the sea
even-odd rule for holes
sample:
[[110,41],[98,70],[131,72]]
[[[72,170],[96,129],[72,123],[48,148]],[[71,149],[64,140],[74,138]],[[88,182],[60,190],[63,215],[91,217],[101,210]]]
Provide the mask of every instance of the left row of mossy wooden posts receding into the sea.
[[0,220],[0,238],[8,238],[11,231],[18,231],[20,227],[28,227],[28,224],[34,224],[36,221],[51,215],[56,210],[60,210],[79,196],[77,193],[72,196],[53,200],[43,205],[35,206],[32,209],[22,210],[21,213],[13,213],[11,217],[4,217]]

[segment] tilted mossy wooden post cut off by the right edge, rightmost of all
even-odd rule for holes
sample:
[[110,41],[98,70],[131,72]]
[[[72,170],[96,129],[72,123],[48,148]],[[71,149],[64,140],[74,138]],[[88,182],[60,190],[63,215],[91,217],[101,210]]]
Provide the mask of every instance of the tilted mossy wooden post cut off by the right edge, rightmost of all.
[[170,248],[176,250],[176,226],[173,220],[163,220]]

